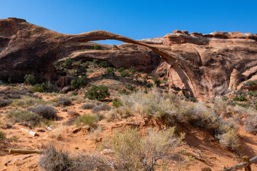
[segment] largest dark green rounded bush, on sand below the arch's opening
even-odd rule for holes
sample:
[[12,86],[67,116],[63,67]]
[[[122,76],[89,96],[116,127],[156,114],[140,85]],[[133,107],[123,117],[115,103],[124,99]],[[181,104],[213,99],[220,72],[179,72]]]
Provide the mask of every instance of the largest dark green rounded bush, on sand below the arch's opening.
[[91,100],[103,100],[104,98],[108,98],[110,93],[107,86],[92,86],[86,91],[85,96]]

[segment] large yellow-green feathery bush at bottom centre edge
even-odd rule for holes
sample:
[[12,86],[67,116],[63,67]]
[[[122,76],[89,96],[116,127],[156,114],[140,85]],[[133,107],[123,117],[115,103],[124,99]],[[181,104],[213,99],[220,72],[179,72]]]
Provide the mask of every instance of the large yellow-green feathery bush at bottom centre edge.
[[175,148],[183,145],[184,134],[176,137],[175,128],[149,130],[142,138],[138,130],[128,128],[124,133],[116,131],[104,141],[104,147],[114,151],[116,170],[155,170],[156,161],[172,160]]

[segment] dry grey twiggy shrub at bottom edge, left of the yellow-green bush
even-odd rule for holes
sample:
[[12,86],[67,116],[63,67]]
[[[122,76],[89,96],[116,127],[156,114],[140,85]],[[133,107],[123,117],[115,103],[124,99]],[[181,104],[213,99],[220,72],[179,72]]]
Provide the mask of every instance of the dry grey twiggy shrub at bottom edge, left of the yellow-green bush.
[[41,155],[39,166],[44,170],[51,171],[81,171],[81,170],[113,170],[114,163],[104,155],[94,154],[73,154],[53,144],[46,146]]

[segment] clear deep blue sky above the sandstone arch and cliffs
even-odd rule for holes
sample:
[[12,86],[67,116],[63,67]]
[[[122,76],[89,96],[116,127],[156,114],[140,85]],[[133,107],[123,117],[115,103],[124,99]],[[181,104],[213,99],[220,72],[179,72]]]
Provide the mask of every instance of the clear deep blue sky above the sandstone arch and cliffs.
[[177,29],[257,33],[256,7],[257,0],[0,0],[0,19],[26,19],[61,33],[104,30],[142,39]]

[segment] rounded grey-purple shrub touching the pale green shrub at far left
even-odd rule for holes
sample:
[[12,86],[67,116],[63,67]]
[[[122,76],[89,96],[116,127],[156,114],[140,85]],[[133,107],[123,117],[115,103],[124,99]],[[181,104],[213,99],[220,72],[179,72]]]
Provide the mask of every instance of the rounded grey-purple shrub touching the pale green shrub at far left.
[[27,111],[38,113],[45,119],[56,119],[56,110],[51,105],[36,105],[36,107],[28,108]]

